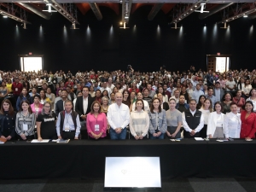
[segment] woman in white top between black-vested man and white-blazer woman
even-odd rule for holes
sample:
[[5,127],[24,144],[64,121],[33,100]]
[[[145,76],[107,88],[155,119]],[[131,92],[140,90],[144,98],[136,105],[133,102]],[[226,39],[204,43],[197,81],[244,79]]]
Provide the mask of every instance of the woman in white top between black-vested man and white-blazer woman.
[[202,107],[199,109],[204,117],[204,127],[200,131],[200,137],[206,138],[207,137],[207,124],[208,124],[208,117],[209,114],[212,112],[212,101],[211,99],[206,99],[203,103]]

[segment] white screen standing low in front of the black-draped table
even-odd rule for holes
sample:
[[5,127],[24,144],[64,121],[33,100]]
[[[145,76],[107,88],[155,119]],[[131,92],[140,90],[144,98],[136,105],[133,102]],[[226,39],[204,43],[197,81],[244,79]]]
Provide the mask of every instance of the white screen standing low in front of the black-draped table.
[[105,188],[160,188],[160,157],[106,157]]

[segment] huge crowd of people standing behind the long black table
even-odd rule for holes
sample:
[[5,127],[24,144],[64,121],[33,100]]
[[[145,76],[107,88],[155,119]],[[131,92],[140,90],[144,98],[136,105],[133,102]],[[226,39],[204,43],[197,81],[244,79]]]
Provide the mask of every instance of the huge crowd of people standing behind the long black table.
[[256,133],[256,71],[0,71],[0,137],[245,138]]

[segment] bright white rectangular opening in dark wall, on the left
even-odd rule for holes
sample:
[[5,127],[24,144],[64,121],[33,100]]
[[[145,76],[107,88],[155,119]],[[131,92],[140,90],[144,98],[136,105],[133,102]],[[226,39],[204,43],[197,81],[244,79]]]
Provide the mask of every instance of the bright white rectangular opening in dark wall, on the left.
[[22,72],[38,72],[43,69],[42,57],[20,57],[20,67]]

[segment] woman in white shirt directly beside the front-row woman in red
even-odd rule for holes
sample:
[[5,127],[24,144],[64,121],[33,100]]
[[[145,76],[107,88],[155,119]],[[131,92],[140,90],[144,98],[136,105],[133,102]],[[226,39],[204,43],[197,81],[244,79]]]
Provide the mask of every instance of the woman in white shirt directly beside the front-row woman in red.
[[237,113],[236,102],[231,102],[230,113],[224,116],[223,131],[226,138],[240,138],[241,131],[241,114]]

